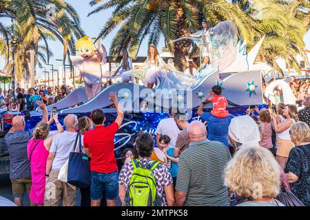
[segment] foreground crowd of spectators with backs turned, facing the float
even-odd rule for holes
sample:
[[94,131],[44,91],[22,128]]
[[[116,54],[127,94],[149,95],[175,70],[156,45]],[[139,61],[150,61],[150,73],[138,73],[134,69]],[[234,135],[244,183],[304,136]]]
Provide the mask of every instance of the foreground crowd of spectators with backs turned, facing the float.
[[[280,195],[287,181],[296,199],[310,206],[310,97],[303,100],[300,111],[280,103],[274,110],[256,107],[242,116],[220,118],[204,109],[208,101],[223,100],[224,108],[217,105],[213,110],[227,111],[220,89],[212,90],[214,98],[203,100],[198,109],[203,121],[189,122],[185,112],[171,108],[169,117],[159,122],[156,137],[146,131],[136,133],[133,148],[123,150],[121,167],[114,138],[124,113],[116,94],[110,94],[116,119],[108,125],[103,111],[95,109],[90,118],[67,115],[62,126],[56,114],[48,119],[43,98],[37,100],[42,122],[25,131],[23,117],[17,115],[5,137],[15,203],[21,206],[23,193],[28,192],[32,206],[59,206],[60,202],[76,206],[76,192],[81,190],[83,206],[101,206],[103,200],[107,206],[139,204],[143,201],[130,197],[136,184],[132,179],[139,175],[138,168],[145,168],[152,171],[156,189],[150,205],[286,206]],[[50,98],[51,92],[45,96]],[[54,122],[57,132],[49,136]],[[79,189],[59,179],[78,137],[90,159],[89,188]],[[136,190],[142,192],[143,187]]]

